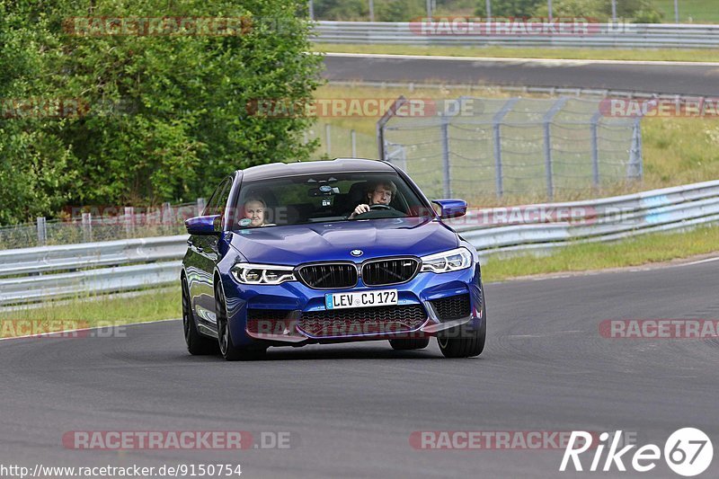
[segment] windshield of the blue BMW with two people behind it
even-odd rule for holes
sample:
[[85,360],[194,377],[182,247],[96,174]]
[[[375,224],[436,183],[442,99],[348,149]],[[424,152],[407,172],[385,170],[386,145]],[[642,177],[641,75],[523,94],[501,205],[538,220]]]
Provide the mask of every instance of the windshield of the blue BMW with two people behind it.
[[431,211],[398,174],[376,172],[243,182],[236,205],[233,229],[418,217]]

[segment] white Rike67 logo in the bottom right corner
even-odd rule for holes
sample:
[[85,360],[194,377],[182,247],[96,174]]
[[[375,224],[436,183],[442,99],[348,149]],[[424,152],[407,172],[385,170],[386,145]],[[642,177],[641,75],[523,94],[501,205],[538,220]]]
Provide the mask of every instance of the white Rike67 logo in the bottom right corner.
[[[590,432],[583,430],[572,431],[569,444],[564,449],[562,465],[559,466],[560,471],[566,471],[570,464],[575,471],[585,470],[586,463],[582,466],[580,456],[594,446],[591,438],[592,434]],[[634,454],[630,454],[629,451],[636,448],[636,445],[630,444],[620,449],[619,442],[621,438],[621,430],[617,430],[613,436],[608,432],[599,434],[599,445],[593,448],[594,456],[588,470],[592,472],[615,470],[625,472],[625,461],[636,472],[640,473],[649,472],[657,466],[657,462],[662,456],[659,446],[646,444],[641,448],[637,448]],[[602,465],[602,456],[607,447],[607,457],[604,457]],[[678,475],[691,477],[703,473],[712,464],[714,448],[712,447],[711,439],[703,431],[695,428],[682,428],[672,432],[669,439],[664,443],[663,456],[664,461],[672,471]],[[572,466],[569,468],[570,471]]]

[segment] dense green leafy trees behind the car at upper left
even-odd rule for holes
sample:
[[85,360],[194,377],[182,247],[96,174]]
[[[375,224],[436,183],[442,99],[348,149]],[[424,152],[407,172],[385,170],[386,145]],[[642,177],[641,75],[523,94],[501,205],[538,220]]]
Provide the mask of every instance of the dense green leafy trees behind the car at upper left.
[[[321,83],[322,58],[306,53],[303,1],[0,0],[0,7],[0,98],[80,99],[89,109],[4,120],[0,199],[17,200],[3,202],[0,221],[51,215],[63,204],[194,200],[222,174],[305,159],[315,147],[301,141],[311,119],[248,109],[262,99],[308,101]],[[67,33],[75,16],[244,18],[250,26],[235,36],[77,36]]]

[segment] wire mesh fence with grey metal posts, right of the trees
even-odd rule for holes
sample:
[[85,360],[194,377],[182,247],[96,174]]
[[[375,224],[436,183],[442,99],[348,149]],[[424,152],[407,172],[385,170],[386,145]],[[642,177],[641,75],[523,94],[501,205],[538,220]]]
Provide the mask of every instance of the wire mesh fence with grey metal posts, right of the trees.
[[643,175],[639,119],[611,116],[606,100],[460,97],[433,111],[390,114],[377,128],[380,155],[432,198],[551,200]]

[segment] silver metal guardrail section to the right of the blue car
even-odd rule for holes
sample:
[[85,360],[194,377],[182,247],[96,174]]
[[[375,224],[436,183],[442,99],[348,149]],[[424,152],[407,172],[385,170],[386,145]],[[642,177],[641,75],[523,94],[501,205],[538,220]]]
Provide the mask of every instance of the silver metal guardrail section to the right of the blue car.
[[[495,208],[494,212],[502,213],[499,225],[487,220],[496,216],[488,215],[492,212],[475,210],[448,223],[480,253],[537,251],[570,243],[615,241],[719,222],[719,181],[601,200]],[[555,220],[557,212],[564,220]],[[512,216],[517,220],[512,221]]]

